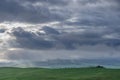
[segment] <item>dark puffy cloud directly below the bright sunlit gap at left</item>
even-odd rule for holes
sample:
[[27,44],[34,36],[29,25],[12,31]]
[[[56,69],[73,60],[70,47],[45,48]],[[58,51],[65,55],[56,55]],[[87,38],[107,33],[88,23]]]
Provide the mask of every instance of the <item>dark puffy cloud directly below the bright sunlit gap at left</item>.
[[53,47],[52,41],[45,40],[42,36],[25,31],[20,27],[13,29],[12,35],[16,37],[21,48],[48,49]]

